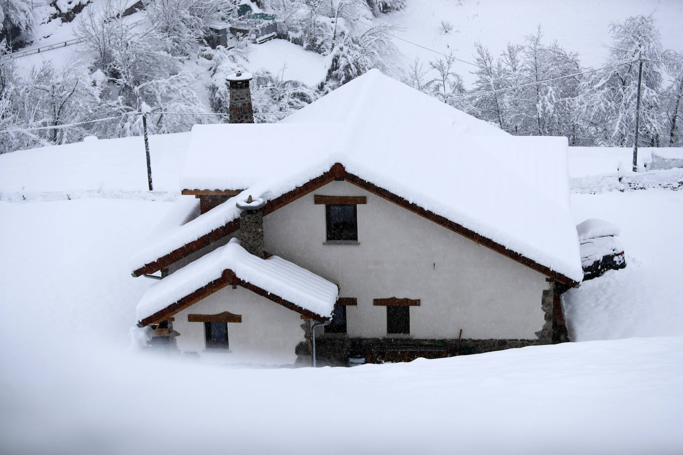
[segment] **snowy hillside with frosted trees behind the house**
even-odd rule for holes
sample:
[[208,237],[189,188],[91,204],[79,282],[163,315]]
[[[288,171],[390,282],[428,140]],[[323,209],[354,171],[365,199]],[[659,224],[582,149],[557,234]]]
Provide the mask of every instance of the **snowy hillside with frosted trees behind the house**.
[[[225,77],[236,70],[254,75],[257,123],[279,121],[372,68],[511,134],[626,147],[638,55],[641,145],[683,145],[683,7],[673,0],[34,1],[33,24],[10,40],[29,44],[0,56],[0,153],[141,134],[143,104],[152,133],[226,121]],[[244,26],[266,21],[275,39],[206,46],[238,20],[233,3],[275,14]]]

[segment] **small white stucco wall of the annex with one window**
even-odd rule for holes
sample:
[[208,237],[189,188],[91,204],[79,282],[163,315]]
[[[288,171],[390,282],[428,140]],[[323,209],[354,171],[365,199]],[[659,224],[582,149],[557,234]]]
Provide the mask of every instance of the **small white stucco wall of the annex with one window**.
[[[229,352],[206,349],[204,323],[188,322],[188,314],[218,314],[224,311],[242,316],[241,323],[227,323]],[[298,313],[247,289],[224,287],[178,312],[173,329],[180,333],[176,344],[181,351],[197,352],[217,362],[264,365],[293,364],[294,348],[304,340]]]

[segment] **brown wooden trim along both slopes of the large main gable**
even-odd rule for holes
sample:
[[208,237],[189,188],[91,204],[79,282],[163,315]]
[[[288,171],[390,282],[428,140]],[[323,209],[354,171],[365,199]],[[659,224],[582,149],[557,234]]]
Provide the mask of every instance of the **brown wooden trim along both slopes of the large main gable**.
[[[539,263],[527,258],[526,256],[522,256],[522,254],[519,254],[518,252],[508,250],[507,248],[505,248],[505,246],[491,239],[488,239],[483,235],[479,235],[471,229],[467,229],[466,227],[462,226],[461,224],[448,220],[447,218],[441,215],[436,215],[432,211],[424,209],[423,207],[420,207],[415,203],[411,203],[406,199],[402,198],[401,196],[398,196],[397,194],[393,194],[392,192],[389,192],[384,188],[380,188],[379,186],[376,186],[375,184],[372,184],[369,181],[361,179],[361,177],[358,177],[357,175],[347,173],[346,169],[341,163],[335,163],[329,171],[323,173],[322,175],[320,175],[320,177],[316,177],[315,179],[308,181],[306,184],[298,186],[294,188],[294,190],[287,192],[282,196],[273,199],[272,201],[269,201],[268,203],[266,203],[266,206],[263,209],[263,214],[264,216],[270,214],[271,212],[279,209],[280,207],[283,207],[284,205],[287,205],[292,201],[296,201],[296,199],[299,199],[301,196],[305,196],[309,192],[317,190],[318,188],[328,184],[330,181],[342,178],[356,186],[359,186],[360,188],[363,188],[364,190],[367,190],[369,192],[372,192],[373,194],[376,194],[377,196],[380,196],[382,199],[391,201],[412,211],[415,214],[418,214],[419,216],[423,216],[428,220],[432,220],[437,224],[441,224],[441,226],[444,226],[446,229],[450,229],[451,231],[454,231],[462,235],[463,237],[471,239],[477,242],[477,244],[479,245],[486,246],[486,248],[490,248],[495,252],[503,254],[503,256],[507,256],[513,261],[516,261],[522,265],[526,265],[527,267],[534,269],[535,271],[538,271],[541,274],[553,278],[553,280],[559,281],[563,284],[567,284],[570,287],[574,287],[576,286],[576,284],[578,284],[571,278],[568,278],[567,276],[564,276],[563,274],[560,274],[557,271],[551,270],[545,265],[540,265]],[[208,244],[211,244],[212,242],[217,241],[225,237],[226,235],[229,235],[234,231],[237,231],[238,229],[240,229],[239,218],[225,224],[225,226],[221,226],[218,229],[214,229],[210,233],[203,235],[202,237],[199,237],[199,239],[192,241],[189,244],[186,244],[176,250],[173,250],[169,254],[162,256],[161,258],[157,259],[152,263],[146,264],[144,267],[135,270],[133,272],[133,275],[141,276],[143,274],[153,274],[158,269],[167,267],[168,265],[171,265],[172,263],[184,258],[188,254],[200,250],[201,248],[204,248],[204,246],[207,246]]]

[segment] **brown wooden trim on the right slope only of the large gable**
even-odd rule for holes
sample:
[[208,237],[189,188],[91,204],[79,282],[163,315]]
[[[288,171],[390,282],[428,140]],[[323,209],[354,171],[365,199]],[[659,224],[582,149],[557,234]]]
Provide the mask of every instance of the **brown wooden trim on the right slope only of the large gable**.
[[441,224],[441,226],[444,226],[446,229],[450,229],[451,231],[454,231],[463,237],[466,237],[470,240],[473,240],[477,242],[479,245],[486,246],[486,248],[490,248],[491,250],[494,250],[495,252],[498,252],[500,254],[503,254],[503,256],[507,256],[513,261],[516,261],[522,265],[526,265],[527,267],[530,267],[531,269],[534,269],[535,271],[538,271],[550,278],[553,278],[553,280],[559,281],[564,284],[568,284],[572,287],[576,286],[578,284],[571,278],[568,278],[567,276],[564,276],[563,274],[560,274],[557,271],[551,270],[550,268],[546,267],[545,265],[540,265],[539,263],[527,258],[526,256],[522,256],[522,254],[519,254],[516,251],[513,250],[508,250],[505,248],[505,246],[497,243],[496,241],[493,241],[489,239],[488,237],[484,237],[483,235],[480,235],[478,233],[475,233],[475,231],[472,231],[471,229],[467,229],[466,227],[462,226],[462,224],[458,224],[456,222],[453,222],[441,215],[436,215],[434,212],[424,209],[423,207],[420,207],[419,205],[415,203],[411,203],[407,201],[406,199],[402,198],[401,196],[398,196],[397,194],[393,194],[392,192],[389,192],[385,190],[384,188],[380,188],[369,181],[366,181],[364,179],[361,179],[361,177],[358,177],[357,175],[353,175],[350,173],[346,173],[344,176],[344,179],[346,181],[349,181],[350,183],[359,186],[360,188],[363,188],[367,191],[370,191],[377,196],[380,196],[382,199],[386,199],[387,201],[393,202],[395,204],[398,204],[410,211],[412,211],[415,214],[418,214],[419,216],[423,216],[424,218],[427,218],[428,220],[431,220],[437,224]]

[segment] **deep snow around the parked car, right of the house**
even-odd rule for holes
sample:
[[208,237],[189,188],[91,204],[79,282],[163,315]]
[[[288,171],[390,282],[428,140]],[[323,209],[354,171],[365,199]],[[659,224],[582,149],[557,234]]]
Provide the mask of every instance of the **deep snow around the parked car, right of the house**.
[[683,192],[572,194],[574,221],[622,228],[626,269],[607,271],[564,296],[574,340],[683,335]]

